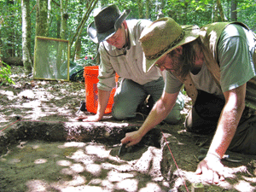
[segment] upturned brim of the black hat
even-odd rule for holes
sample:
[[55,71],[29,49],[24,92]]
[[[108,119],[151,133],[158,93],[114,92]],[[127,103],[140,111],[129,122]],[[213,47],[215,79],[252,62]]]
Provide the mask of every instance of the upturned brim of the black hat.
[[122,25],[123,21],[126,19],[126,17],[131,13],[131,9],[125,9],[125,11],[119,16],[119,18],[115,21],[114,27],[108,32],[97,32],[95,22],[91,22],[90,25],[87,27],[87,33],[90,37],[90,39],[96,43],[99,44],[102,41],[111,38],[113,34],[119,29],[119,26]]

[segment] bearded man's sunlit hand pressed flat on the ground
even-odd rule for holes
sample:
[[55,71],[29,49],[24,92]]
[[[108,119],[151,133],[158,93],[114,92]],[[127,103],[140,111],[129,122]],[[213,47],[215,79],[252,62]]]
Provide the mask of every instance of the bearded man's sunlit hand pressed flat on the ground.
[[201,174],[202,179],[207,183],[219,183],[224,181],[224,166],[221,160],[215,155],[208,155],[197,166],[196,174]]

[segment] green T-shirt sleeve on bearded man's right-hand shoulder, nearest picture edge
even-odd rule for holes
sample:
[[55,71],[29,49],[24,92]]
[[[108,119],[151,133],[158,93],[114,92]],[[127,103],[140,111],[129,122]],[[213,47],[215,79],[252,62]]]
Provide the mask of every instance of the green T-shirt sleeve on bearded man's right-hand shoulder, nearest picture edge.
[[255,76],[246,29],[229,25],[218,42],[220,85],[223,92],[236,89]]

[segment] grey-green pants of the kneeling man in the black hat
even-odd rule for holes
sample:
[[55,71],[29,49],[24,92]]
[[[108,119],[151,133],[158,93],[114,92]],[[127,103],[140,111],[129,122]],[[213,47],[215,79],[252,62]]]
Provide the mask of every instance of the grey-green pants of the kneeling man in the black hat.
[[[131,79],[124,79],[113,97],[113,118],[119,120],[135,118],[138,105],[144,102],[148,95],[152,96],[154,102],[157,102],[163,93],[164,87],[165,82],[162,77],[147,84],[137,84]],[[183,110],[183,106],[184,101],[180,93],[177,96],[174,108],[172,108],[165,121],[169,124],[177,124],[181,119],[180,112]]]

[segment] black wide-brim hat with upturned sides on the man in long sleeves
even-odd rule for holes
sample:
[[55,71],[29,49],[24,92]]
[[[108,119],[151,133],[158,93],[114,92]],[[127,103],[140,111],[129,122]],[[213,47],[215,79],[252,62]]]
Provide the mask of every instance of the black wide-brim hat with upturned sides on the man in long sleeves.
[[90,39],[98,44],[110,38],[122,25],[131,9],[126,9],[122,14],[115,4],[110,4],[94,14],[94,21],[87,27]]

